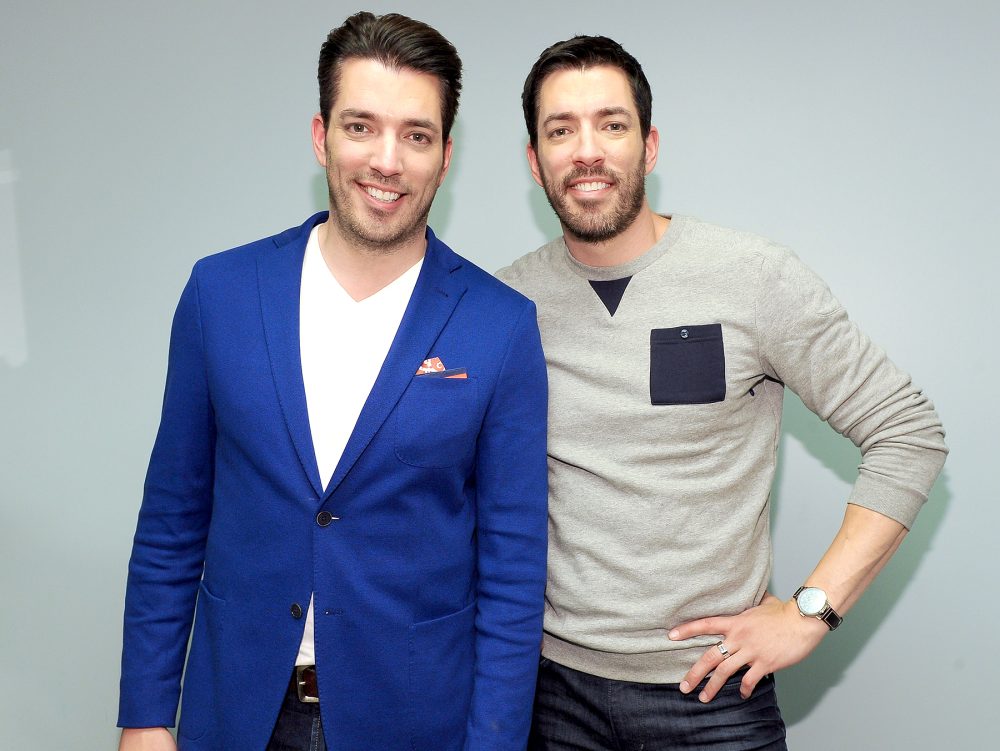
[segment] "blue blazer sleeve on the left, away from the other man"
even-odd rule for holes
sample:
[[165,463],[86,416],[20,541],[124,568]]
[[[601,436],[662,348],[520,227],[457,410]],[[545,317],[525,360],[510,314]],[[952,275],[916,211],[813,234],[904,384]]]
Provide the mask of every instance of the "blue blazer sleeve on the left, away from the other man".
[[177,715],[214,475],[200,314],[195,267],[174,315],[163,411],[129,561],[120,727],[171,727]]

